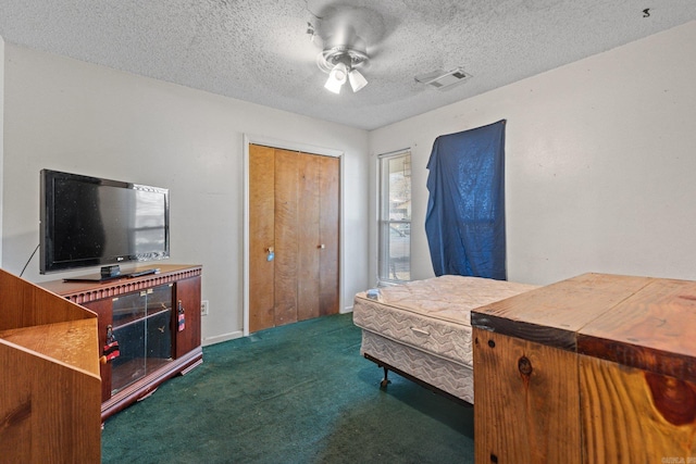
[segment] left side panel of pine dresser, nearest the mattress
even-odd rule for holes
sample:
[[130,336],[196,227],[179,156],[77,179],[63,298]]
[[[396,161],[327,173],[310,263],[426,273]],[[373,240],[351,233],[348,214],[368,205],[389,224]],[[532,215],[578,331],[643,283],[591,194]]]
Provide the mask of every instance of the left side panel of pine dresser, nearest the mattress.
[[474,328],[476,463],[580,463],[577,360]]

